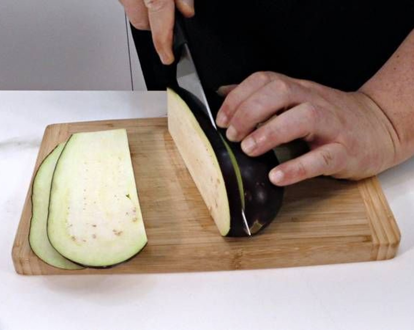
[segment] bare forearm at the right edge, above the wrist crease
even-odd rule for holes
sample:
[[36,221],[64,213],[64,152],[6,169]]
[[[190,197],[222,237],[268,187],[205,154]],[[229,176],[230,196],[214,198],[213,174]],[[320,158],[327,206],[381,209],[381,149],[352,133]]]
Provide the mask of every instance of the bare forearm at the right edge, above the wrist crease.
[[414,154],[414,30],[361,88],[392,125],[396,165]]

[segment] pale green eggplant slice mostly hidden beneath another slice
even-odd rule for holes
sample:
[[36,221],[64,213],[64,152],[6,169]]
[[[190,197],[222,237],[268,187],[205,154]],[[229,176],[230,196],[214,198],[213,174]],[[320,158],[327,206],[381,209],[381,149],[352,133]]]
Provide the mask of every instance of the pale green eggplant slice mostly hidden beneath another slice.
[[61,269],[82,269],[82,266],[70,262],[59,254],[51,245],[47,236],[48,206],[51,192],[52,176],[58,158],[65,147],[65,142],[58,144],[43,159],[33,179],[31,193],[31,220],[29,244],[34,252],[46,264]]

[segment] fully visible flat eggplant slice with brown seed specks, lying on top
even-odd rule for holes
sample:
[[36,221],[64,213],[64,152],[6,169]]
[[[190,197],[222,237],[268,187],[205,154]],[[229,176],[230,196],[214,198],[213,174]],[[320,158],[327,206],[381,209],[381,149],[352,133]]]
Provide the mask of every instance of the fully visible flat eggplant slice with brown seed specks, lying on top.
[[47,234],[63,257],[87,267],[119,264],[144,248],[125,130],[70,136],[53,173]]

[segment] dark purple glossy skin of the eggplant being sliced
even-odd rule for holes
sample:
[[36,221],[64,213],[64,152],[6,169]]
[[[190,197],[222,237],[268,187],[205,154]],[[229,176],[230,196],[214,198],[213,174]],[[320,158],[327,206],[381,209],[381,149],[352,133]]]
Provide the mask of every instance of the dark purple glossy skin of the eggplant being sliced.
[[[203,132],[209,139],[223,173],[230,207],[230,230],[226,236],[248,236],[241,216],[241,200],[236,173],[230,156],[224,146],[223,138],[231,148],[240,168],[243,181],[246,220],[252,235],[269,225],[279,212],[284,195],[282,187],[274,186],[269,180],[269,171],[279,164],[274,152],[270,151],[258,157],[250,157],[241,149],[240,143],[230,142],[225,130],[215,130],[205,112],[204,105],[191,93],[174,86],[176,93],[193,112]],[[215,117],[223,99],[215,92],[206,93],[212,114]]]

